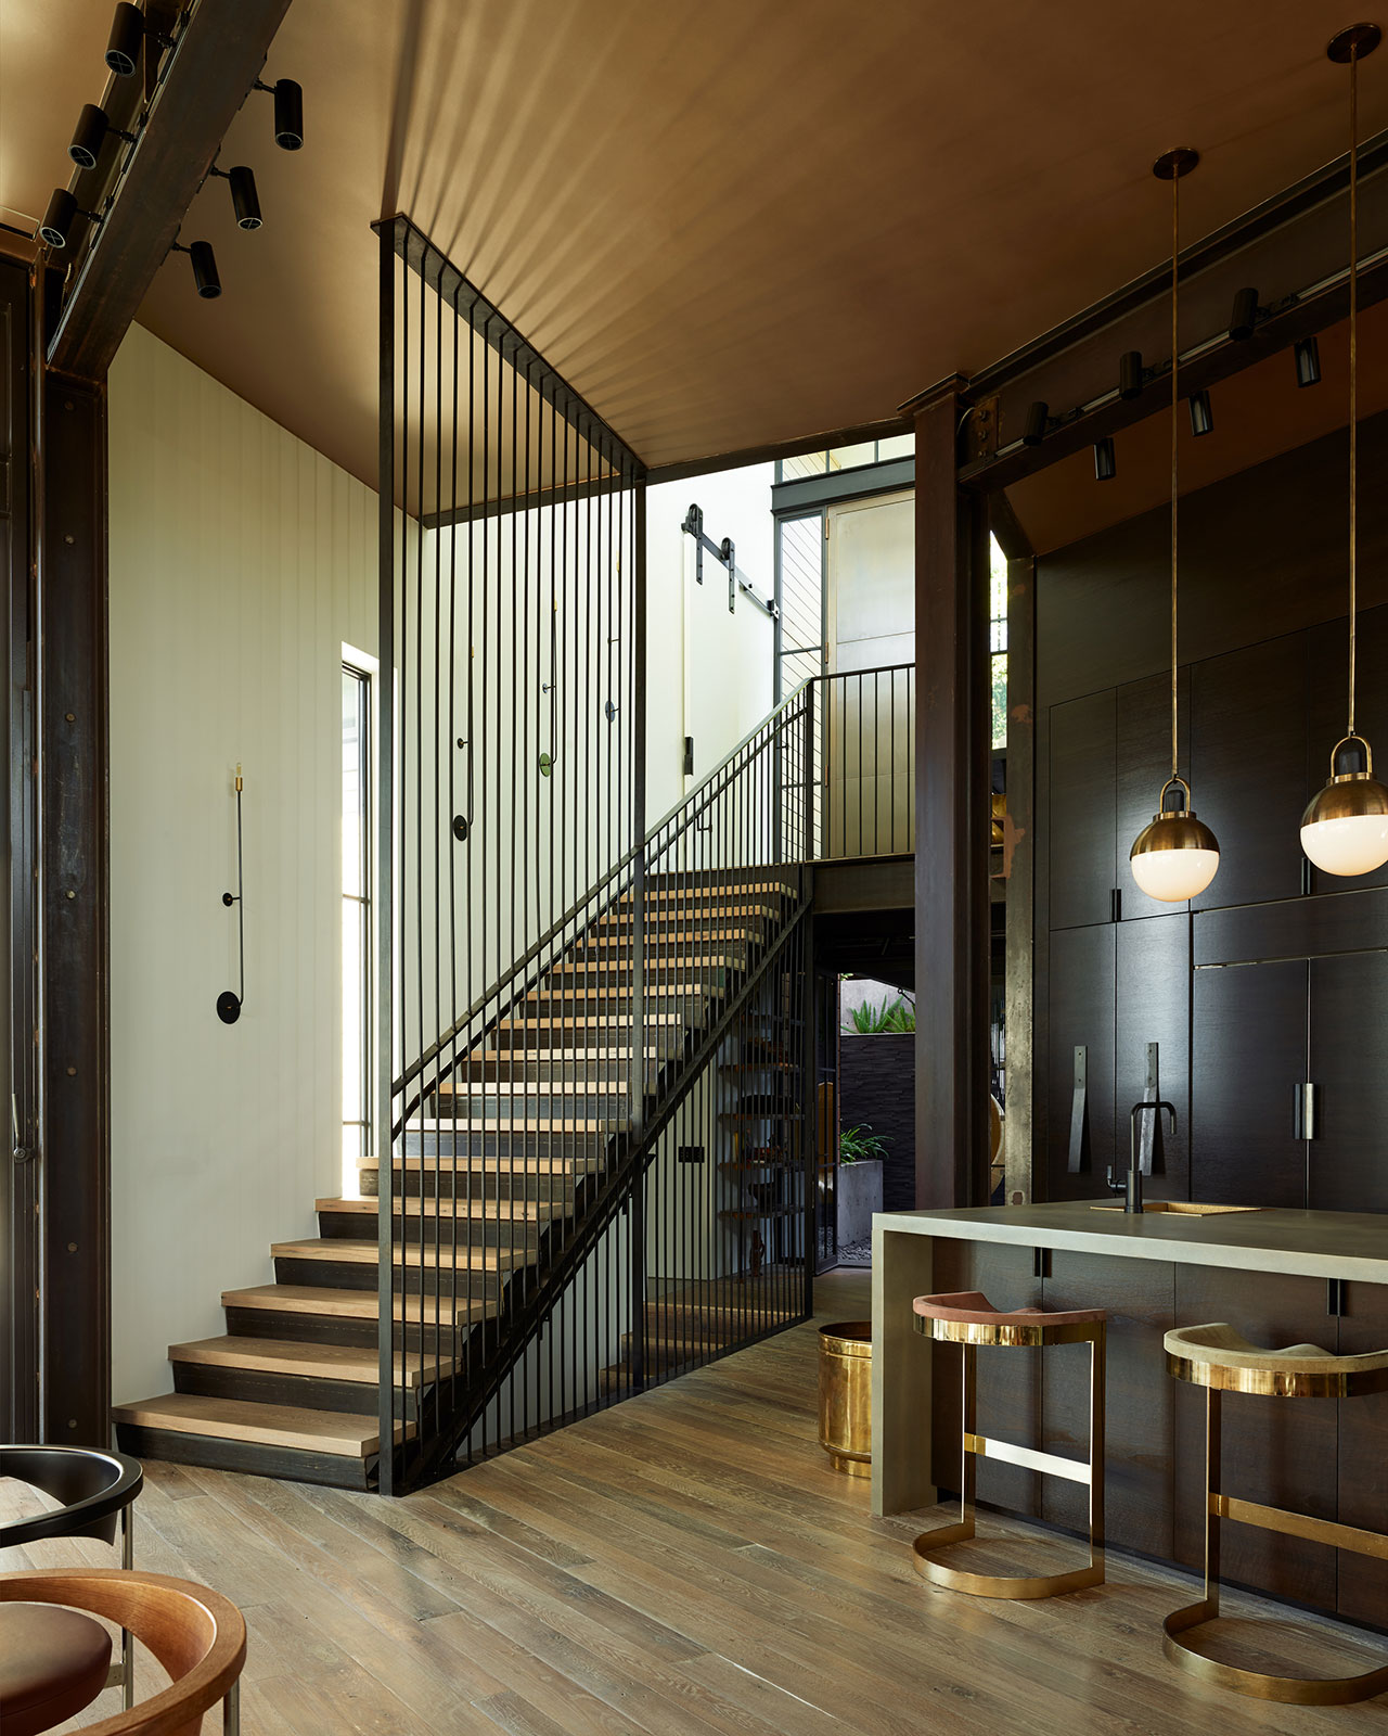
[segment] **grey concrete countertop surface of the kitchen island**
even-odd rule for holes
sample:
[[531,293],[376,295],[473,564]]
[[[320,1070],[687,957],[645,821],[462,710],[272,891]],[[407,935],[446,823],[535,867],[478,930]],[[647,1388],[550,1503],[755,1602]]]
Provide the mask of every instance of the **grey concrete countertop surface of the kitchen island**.
[[1143,1212],[1142,1217],[1128,1217],[1123,1210],[1093,1210],[1093,1205],[1110,1203],[1070,1200],[1060,1205],[878,1212],[873,1217],[873,1264],[883,1253],[878,1236],[951,1236],[1388,1285],[1388,1213],[1267,1210],[1218,1212],[1211,1217]]

